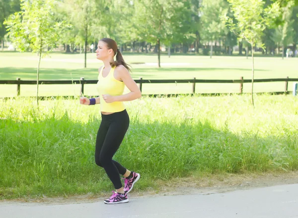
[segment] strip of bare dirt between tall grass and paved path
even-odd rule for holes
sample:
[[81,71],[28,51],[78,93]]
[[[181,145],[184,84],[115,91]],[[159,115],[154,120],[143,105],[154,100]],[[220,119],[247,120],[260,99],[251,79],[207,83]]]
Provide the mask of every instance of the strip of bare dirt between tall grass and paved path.
[[[130,199],[149,198],[157,196],[174,195],[211,195],[216,193],[225,193],[237,190],[248,190],[262,187],[270,187],[286,184],[298,183],[298,171],[259,173],[259,174],[223,174],[223,175],[192,175],[187,178],[175,178],[169,182],[156,181],[158,189],[148,189],[146,191],[133,191],[129,193]],[[110,193],[101,193],[100,195],[78,195],[57,198],[38,198],[38,199],[14,199],[2,200],[0,204],[81,204],[95,203],[106,199]]]

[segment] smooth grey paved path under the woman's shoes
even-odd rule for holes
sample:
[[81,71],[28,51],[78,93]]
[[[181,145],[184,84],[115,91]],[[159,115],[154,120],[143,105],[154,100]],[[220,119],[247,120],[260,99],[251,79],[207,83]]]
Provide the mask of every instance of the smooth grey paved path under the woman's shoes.
[[298,218],[298,184],[210,195],[131,198],[129,203],[7,204],[0,218]]

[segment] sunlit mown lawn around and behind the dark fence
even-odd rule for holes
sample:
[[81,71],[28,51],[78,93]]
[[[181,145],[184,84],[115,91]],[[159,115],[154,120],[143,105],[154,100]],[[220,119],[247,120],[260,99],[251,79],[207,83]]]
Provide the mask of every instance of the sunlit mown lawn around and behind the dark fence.
[[[84,77],[97,78],[97,69],[102,64],[94,53],[87,54],[87,68],[83,68],[83,54],[53,53],[41,61],[41,80],[69,80]],[[133,67],[134,79],[251,79],[251,58],[227,56],[173,55],[161,56],[161,68],[157,68],[157,56],[124,54]],[[139,63],[139,64],[137,64]],[[146,63],[146,64],[145,64]],[[35,80],[38,56],[31,53],[0,52],[0,80]],[[298,78],[298,59],[280,57],[256,57],[255,78]],[[289,91],[293,83],[289,83]],[[284,91],[284,82],[257,83],[255,92]],[[251,85],[244,84],[243,92],[250,92]],[[35,86],[22,85],[21,96],[35,96]],[[191,84],[145,84],[143,94],[191,93]],[[127,90],[126,90],[127,91]],[[233,93],[239,84],[197,84],[197,93]],[[85,86],[85,95],[96,95],[94,85]],[[16,95],[15,85],[0,85],[0,97]],[[79,95],[79,85],[41,85],[40,96]]]

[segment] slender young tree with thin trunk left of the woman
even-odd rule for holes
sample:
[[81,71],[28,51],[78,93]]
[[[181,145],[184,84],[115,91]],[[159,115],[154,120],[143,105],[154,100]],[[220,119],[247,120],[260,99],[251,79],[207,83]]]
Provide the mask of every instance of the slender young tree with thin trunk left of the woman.
[[39,54],[37,67],[36,101],[38,105],[39,66],[44,49],[56,47],[60,34],[68,27],[65,22],[56,22],[53,0],[21,0],[21,11],[5,20],[9,36],[18,51],[31,49]]

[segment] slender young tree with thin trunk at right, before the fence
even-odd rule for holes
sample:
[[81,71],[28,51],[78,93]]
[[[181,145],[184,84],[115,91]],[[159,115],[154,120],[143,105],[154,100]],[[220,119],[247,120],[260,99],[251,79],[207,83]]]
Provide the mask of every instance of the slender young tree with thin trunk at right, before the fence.
[[252,56],[252,83],[251,83],[251,101],[253,101],[253,80],[254,80],[254,57],[253,47],[260,38],[264,29],[271,26],[274,20],[279,15],[279,3],[274,2],[264,8],[262,0],[228,0],[231,10],[234,12],[234,17],[237,20],[235,24],[233,19],[224,16],[223,20],[230,30],[237,34],[240,39],[245,39],[251,45]]

